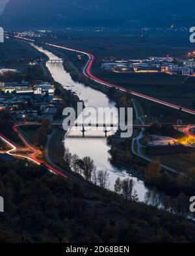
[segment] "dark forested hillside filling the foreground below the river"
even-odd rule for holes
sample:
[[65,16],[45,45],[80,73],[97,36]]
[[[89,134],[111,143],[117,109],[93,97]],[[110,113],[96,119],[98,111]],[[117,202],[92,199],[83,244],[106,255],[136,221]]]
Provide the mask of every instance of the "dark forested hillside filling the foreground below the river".
[[16,161],[0,165],[0,242],[193,242],[183,219],[88,182]]

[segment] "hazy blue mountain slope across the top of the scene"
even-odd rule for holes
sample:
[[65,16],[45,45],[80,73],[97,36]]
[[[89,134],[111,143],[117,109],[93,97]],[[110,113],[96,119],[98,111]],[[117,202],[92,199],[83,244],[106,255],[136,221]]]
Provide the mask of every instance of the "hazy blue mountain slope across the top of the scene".
[[[190,7],[190,8],[189,8]],[[10,0],[5,27],[157,27],[195,25],[195,2],[170,0]],[[1,24],[0,23],[0,24]]]

